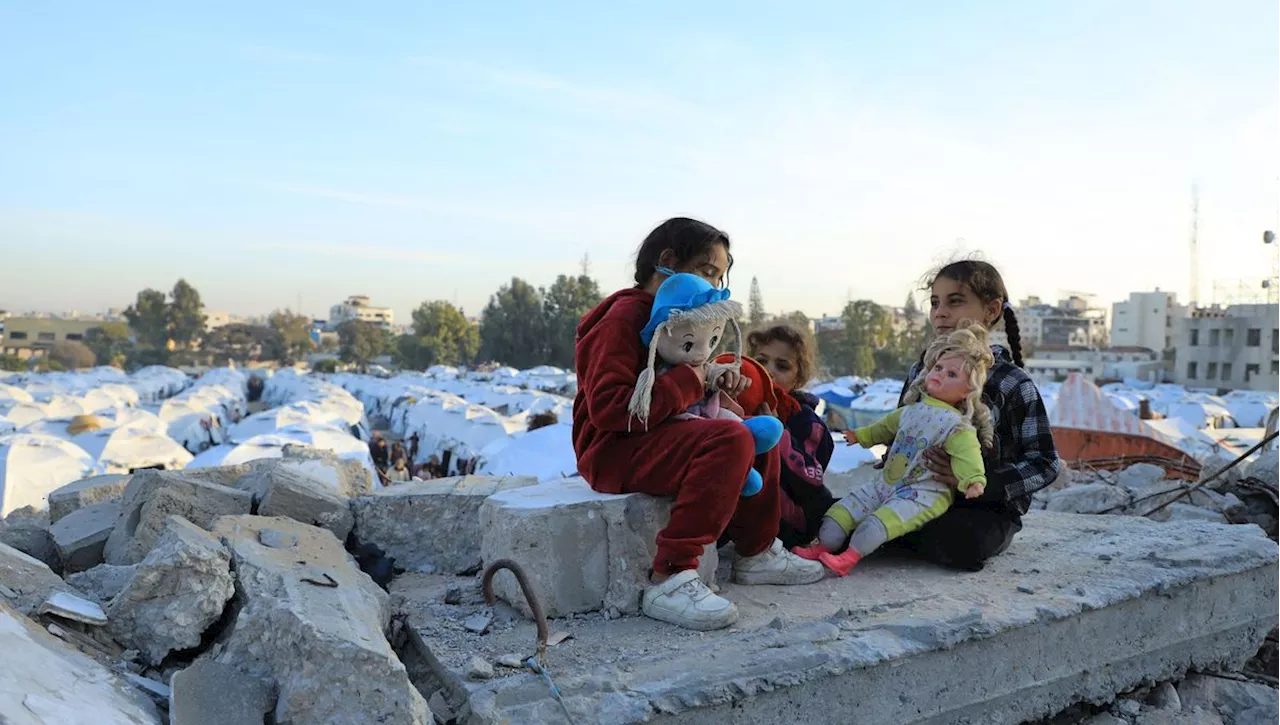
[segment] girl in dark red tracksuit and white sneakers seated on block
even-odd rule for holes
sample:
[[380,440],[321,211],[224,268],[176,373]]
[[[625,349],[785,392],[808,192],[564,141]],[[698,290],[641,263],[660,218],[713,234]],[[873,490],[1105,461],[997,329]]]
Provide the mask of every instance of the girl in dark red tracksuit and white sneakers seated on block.
[[[649,493],[675,497],[671,521],[658,533],[650,585],[641,611],[690,629],[721,629],[737,621],[732,602],[712,593],[698,578],[698,557],[727,534],[741,584],[809,584],[823,578],[822,565],[783,548],[778,541],[781,491],[777,448],[755,456],[751,433],[733,420],[673,420],[700,401],[709,386],[741,393],[749,380],[735,370],[707,379],[707,364],[680,365],[658,377],[648,425],[627,403],[636,377],[648,364],[640,332],[649,322],[654,293],[673,273],[685,272],[723,286],[733,257],[728,236],[694,219],[663,222],[636,252],[636,286],[622,289],[588,313],[577,327],[575,357],[573,450],[579,471],[602,493]],[[763,489],[740,496],[755,468]]]

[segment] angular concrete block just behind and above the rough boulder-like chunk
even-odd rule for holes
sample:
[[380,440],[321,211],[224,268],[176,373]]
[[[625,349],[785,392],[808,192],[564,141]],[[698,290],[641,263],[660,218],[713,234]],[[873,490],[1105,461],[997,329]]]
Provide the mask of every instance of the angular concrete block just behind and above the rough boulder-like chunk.
[[120,500],[120,517],[106,539],[108,564],[137,564],[160,538],[165,520],[182,516],[201,529],[212,529],[220,516],[248,514],[253,497],[180,473],[146,470],[133,474]]

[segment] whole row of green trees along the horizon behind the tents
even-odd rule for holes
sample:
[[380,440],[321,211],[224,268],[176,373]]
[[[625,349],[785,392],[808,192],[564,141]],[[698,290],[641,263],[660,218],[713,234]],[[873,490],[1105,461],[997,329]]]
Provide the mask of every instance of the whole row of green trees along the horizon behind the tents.
[[[512,277],[489,297],[479,323],[468,320],[451,302],[431,300],[413,310],[406,334],[349,320],[338,327],[337,341],[325,336],[317,343],[312,337],[314,322],[291,310],[271,313],[266,324],[232,323],[209,329],[200,292],[179,279],[169,293],[142,289],[124,313],[128,323],[106,322],[90,329],[83,342],[58,342],[40,365],[50,370],[95,364],[131,369],[228,362],[291,365],[312,352],[332,352],[361,368],[385,357],[394,366],[415,370],[484,362],[572,369],[579,320],[600,300],[600,287],[584,264],[579,274],[561,274],[548,287],[534,287]],[[740,320],[745,333],[780,323],[803,330],[815,350],[819,370],[827,377],[905,375],[925,342],[914,296],[906,300],[905,323],[895,325],[888,309],[870,300],[856,300],[842,310],[841,327],[817,333],[804,313],[768,314],[755,279],[746,307],[746,319]],[[26,362],[0,357],[0,368],[24,369]],[[321,361],[317,369],[334,370],[337,364]]]

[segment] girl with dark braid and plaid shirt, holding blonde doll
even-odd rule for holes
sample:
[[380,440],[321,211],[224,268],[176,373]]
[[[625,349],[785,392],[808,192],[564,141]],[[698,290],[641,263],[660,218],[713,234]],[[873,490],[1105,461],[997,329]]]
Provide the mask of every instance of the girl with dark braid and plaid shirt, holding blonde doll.
[[[961,260],[928,275],[925,282],[931,291],[929,322],[936,334],[951,334],[966,320],[988,330],[1004,325],[1009,347],[991,346],[995,364],[983,386],[982,398],[991,410],[995,441],[991,448],[983,450],[987,485],[982,496],[956,497],[945,514],[899,542],[937,564],[978,571],[988,558],[1009,547],[1014,534],[1023,528],[1032,494],[1053,483],[1062,464],[1053,446],[1044,401],[1023,370],[1018,316],[1000,272],[986,261]],[[908,382],[919,373],[916,362]],[[906,393],[904,386],[904,397]],[[934,480],[952,488],[959,485],[945,448],[929,448],[924,459]]]

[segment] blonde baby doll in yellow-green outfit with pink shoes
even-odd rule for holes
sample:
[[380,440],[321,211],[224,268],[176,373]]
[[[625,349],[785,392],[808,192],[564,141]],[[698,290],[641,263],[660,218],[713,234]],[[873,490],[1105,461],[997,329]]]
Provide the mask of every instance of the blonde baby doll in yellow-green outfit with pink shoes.
[[[989,448],[993,437],[982,387],[992,364],[987,332],[979,325],[933,341],[904,406],[872,425],[845,432],[850,446],[892,442],[881,475],[832,505],[818,529],[818,543],[795,553],[846,576],[884,542],[941,516],[955,493],[924,466],[924,451],[933,446],[951,455],[965,498],[982,496],[987,485],[982,448]],[[835,553],[846,543],[844,553]]]

